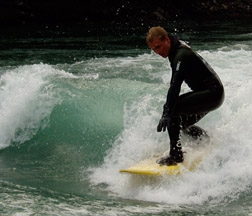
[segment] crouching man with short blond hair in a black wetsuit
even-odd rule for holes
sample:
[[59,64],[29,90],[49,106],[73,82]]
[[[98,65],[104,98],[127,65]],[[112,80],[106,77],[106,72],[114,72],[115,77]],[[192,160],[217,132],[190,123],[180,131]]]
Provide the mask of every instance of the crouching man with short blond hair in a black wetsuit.
[[[167,129],[170,152],[158,159],[157,163],[175,165],[184,161],[180,132],[195,139],[207,136],[205,130],[194,124],[221,106],[224,88],[211,66],[190,46],[168,34],[164,28],[150,28],[146,42],[155,53],[163,58],[168,57],[172,69],[163,115],[157,126],[158,132]],[[191,91],[180,95],[183,82]]]

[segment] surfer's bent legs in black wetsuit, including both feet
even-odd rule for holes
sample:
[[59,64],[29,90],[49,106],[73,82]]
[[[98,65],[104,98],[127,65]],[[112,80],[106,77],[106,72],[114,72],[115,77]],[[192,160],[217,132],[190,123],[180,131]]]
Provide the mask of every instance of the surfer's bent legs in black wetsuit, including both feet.
[[206,134],[203,129],[194,124],[202,119],[208,112],[218,108],[222,102],[222,94],[221,96],[217,95],[216,98],[216,94],[210,90],[189,92],[180,95],[174,111],[174,114],[178,117],[173,117],[172,125],[168,129],[170,137],[170,154],[160,158],[157,163],[174,165],[183,162],[183,152],[179,139],[180,130],[182,129],[185,133],[195,138]]

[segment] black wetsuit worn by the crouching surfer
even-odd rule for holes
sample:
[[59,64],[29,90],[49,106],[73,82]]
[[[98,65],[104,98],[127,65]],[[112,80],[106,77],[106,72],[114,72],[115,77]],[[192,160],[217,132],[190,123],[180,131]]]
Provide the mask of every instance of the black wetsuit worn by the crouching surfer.
[[[224,88],[218,75],[201,56],[176,37],[169,37],[172,77],[163,116],[171,117],[168,133],[172,145],[179,140],[181,127],[186,129],[194,125],[223,103]],[[183,82],[192,91],[179,95]]]

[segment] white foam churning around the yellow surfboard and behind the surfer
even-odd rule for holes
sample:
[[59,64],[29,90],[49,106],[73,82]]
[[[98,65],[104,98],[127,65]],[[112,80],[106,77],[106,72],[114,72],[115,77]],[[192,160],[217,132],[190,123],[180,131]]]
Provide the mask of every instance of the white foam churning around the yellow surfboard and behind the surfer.
[[[225,47],[200,52],[223,81],[226,98],[218,110],[199,122],[209,131],[213,150],[198,170],[156,182],[133,179],[118,172],[120,168],[168,148],[167,134],[156,133],[161,115],[160,100],[164,101],[166,96],[161,91],[156,94],[160,90],[157,85],[153,95],[146,95],[125,107],[124,130],[114,141],[103,165],[93,170],[91,181],[106,183],[108,190],[120,197],[169,204],[214,204],[235,199],[239,192],[245,191],[252,180],[252,51],[237,47],[239,45],[236,49]],[[155,65],[156,57],[152,58]],[[149,63],[150,59],[146,60],[146,64]],[[157,73],[163,70],[146,67],[150,69]]]

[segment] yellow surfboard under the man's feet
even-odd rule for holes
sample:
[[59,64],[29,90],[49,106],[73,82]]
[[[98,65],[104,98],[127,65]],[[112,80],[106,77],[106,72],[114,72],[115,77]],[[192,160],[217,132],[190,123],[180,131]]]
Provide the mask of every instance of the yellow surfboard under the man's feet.
[[191,160],[186,160],[183,163],[178,163],[173,166],[159,165],[156,163],[158,158],[149,158],[139,163],[132,165],[129,168],[121,169],[120,173],[130,173],[138,175],[178,175],[184,171],[192,171],[202,161],[202,155],[195,156]]

